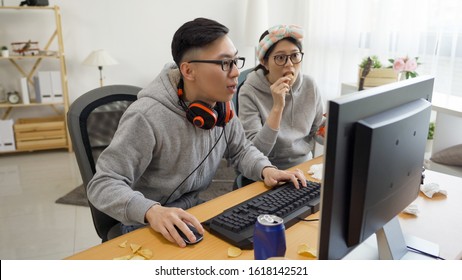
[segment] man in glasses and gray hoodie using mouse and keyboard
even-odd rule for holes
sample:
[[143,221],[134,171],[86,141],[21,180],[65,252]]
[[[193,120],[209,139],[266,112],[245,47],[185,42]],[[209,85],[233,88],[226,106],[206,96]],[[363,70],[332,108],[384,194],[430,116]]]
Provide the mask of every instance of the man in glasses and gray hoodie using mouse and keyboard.
[[245,60],[227,33],[204,18],[182,25],[171,45],[175,63],[139,92],[100,155],[88,198],[119,220],[123,233],[149,225],[181,247],[179,231],[194,242],[187,224],[204,229],[184,209],[200,203],[223,157],[268,186],[289,180],[306,186],[303,173],[272,166],[233,118],[230,100]]

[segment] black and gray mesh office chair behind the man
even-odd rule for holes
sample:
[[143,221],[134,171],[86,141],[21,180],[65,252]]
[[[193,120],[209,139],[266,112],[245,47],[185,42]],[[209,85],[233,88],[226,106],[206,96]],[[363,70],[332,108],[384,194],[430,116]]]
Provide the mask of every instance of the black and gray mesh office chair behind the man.
[[[96,172],[99,155],[111,142],[120,117],[140,90],[128,85],[104,86],[83,94],[70,106],[67,125],[85,190]],[[88,203],[102,242],[122,234],[119,221]]]

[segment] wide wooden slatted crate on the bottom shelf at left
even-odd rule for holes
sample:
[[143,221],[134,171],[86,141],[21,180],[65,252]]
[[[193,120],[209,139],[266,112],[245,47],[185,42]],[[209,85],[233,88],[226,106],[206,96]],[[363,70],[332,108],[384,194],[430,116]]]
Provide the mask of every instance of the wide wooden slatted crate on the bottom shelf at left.
[[64,116],[18,119],[14,135],[18,151],[67,147]]

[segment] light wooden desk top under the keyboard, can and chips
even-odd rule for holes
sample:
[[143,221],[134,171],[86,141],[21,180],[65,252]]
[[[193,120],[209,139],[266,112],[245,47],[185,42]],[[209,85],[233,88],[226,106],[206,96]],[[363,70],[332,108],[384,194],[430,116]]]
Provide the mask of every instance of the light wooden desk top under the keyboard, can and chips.
[[[301,164],[298,168],[307,175],[306,172],[310,166],[317,163],[322,163],[321,157]],[[441,186],[444,185],[443,187],[449,192],[448,198],[434,198],[430,200],[419,197],[416,203],[419,204],[421,215],[417,218],[401,215],[400,221],[402,227],[411,234],[440,244],[442,257],[455,258],[462,252],[462,242],[460,242],[460,236],[462,236],[462,219],[460,219],[460,214],[462,214],[462,204],[460,204],[460,201],[462,201],[462,179],[435,172],[426,172],[428,172],[427,180],[440,182]],[[310,177],[308,176],[308,178]],[[443,179],[446,180],[447,184],[442,183]],[[263,183],[257,182],[193,207],[188,212],[195,215],[199,221],[205,221],[222,212],[224,209],[255,196],[266,189]],[[319,217],[319,212],[309,216],[309,218],[317,217]],[[288,228],[286,230],[286,257],[293,260],[309,259],[308,257],[298,255],[297,247],[301,243],[306,243],[310,247],[317,248],[318,228],[319,222],[299,222]],[[244,250],[238,258],[228,258],[227,250],[230,245],[207,231],[205,231],[204,240],[200,243],[187,246],[186,248],[179,248],[149,228],[130,232],[70,256],[68,259],[113,259],[127,255],[130,253],[130,249],[118,246],[118,244],[125,240],[128,243],[136,243],[143,248],[151,249],[154,253],[152,259],[254,259],[252,250]]]

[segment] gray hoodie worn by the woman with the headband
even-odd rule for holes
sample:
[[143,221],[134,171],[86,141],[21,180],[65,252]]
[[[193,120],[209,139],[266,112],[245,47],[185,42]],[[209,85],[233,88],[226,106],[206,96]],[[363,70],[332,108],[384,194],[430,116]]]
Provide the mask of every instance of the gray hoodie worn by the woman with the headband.
[[314,136],[322,122],[323,105],[314,81],[298,75],[286,103],[279,130],[266,119],[273,107],[270,83],[263,70],[250,72],[239,90],[239,119],[246,136],[280,169],[312,157]]

